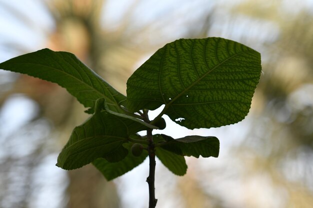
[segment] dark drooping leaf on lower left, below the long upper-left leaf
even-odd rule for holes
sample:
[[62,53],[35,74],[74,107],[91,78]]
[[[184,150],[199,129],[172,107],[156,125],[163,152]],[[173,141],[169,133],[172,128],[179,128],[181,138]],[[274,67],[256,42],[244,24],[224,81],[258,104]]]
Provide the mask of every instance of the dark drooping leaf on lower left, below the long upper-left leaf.
[[84,124],[74,128],[69,141],[57,158],[57,166],[71,170],[91,163],[96,158],[118,162],[127,156],[122,146],[128,136],[146,127],[132,120],[101,111],[96,112]]

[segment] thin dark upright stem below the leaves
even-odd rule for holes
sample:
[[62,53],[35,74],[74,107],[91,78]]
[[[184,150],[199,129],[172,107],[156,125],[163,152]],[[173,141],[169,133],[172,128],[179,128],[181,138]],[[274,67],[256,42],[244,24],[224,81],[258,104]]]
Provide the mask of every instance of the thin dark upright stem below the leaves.
[[155,199],[154,175],[155,175],[155,150],[152,139],[152,129],[147,130],[148,154],[149,154],[149,176],[146,182],[149,186],[149,208],[155,208],[157,200]]

